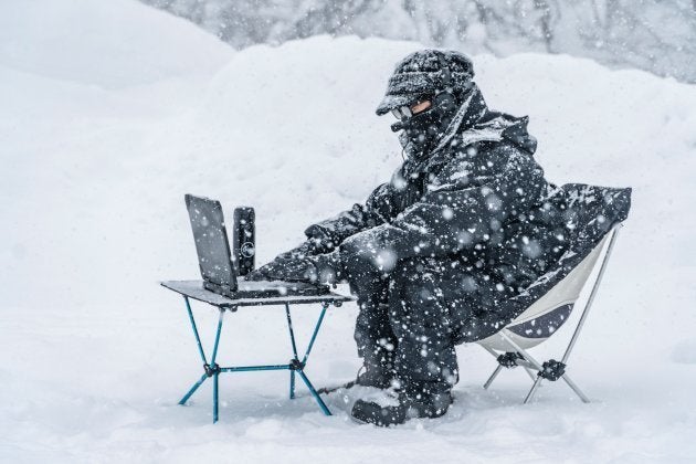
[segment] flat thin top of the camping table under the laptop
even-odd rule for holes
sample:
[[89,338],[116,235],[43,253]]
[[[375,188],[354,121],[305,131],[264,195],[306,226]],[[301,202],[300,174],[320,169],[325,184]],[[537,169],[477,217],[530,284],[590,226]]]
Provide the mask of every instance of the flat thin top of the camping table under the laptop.
[[[189,298],[208,303],[220,308],[234,308],[239,306],[261,306],[261,305],[285,305],[285,304],[308,304],[308,303],[330,303],[340,305],[344,302],[350,302],[354,297],[340,295],[329,292],[324,295],[287,295],[262,298],[229,298],[214,292],[203,288],[203,281],[165,281],[160,282],[166,288],[177,292]],[[259,283],[260,286],[263,283]]]

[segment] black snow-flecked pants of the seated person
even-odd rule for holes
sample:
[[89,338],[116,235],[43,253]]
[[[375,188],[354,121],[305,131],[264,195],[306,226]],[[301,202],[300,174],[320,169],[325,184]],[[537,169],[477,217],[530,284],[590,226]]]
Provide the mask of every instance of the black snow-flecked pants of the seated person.
[[446,391],[458,381],[460,334],[507,295],[485,272],[452,260],[399,261],[388,275],[360,273],[355,339],[368,367],[393,368],[407,388]]

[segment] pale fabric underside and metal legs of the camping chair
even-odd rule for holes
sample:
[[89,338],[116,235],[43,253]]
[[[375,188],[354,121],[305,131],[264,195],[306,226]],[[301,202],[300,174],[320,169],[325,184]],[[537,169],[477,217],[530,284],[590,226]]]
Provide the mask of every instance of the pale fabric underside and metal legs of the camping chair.
[[[537,389],[541,384],[541,381],[556,381],[558,379],[562,379],[568,387],[570,387],[572,391],[580,397],[582,402],[590,402],[588,397],[580,390],[580,388],[578,388],[576,382],[570,379],[566,372],[566,368],[570,352],[578,341],[580,330],[584,325],[588,313],[590,312],[590,306],[597,295],[597,291],[604,274],[604,270],[607,268],[609,256],[614,246],[616,235],[621,226],[621,223],[614,225],[594,246],[594,249],[576,267],[573,267],[568,275],[566,275],[566,277],[553,285],[549,292],[531,304],[505,328],[485,339],[476,341],[498,361],[498,366],[495,368],[486,383],[484,383],[484,389],[488,389],[488,387],[491,387],[504,367],[512,369],[521,366],[534,381],[531,389],[525,397],[525,404],[532,399]],[[601,266],[594,281],[594,285],[592,286],[592,291],[584,304],[584,308],[582,309],[582,314],[570,342],[566,348],[563,357],[560,361],[549,359],[542,363],[538,362],[527,350],[547,340],[566,320],[568,320],[570,312],[578,300],[580,292],[590,278],[590,274],[595,267],[595,264],[600,261],[600,256],[602,256],[602,251],[604,249],[607,251],[603,253],[603,257],[601,259]],[[534,373],[535,371],[536,376]]]

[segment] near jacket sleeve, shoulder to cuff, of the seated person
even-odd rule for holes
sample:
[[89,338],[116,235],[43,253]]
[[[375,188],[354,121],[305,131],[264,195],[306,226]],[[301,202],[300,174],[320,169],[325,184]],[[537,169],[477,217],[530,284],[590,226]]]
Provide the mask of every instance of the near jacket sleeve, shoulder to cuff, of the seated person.
[[390,223],[346,240],[340,250],[349,273],[368,263],[389,272],[399,260],[453,255],[484,242],[499,242],[505,220],[527,212],[547,183],[532,157],[510,144],[498,144],[478,156],[486,157],[483,168],[473,171],[464,156],[453,158],[420,201]]

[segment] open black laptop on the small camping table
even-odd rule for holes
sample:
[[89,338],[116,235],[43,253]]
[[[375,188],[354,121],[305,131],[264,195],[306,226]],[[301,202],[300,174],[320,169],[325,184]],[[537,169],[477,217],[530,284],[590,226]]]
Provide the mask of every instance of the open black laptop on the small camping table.
[[316,296],[329,293],[327,285],[283,281],[238,280],[230,242],[224,225],[222,205],[217,200],[187,194],[198,263],[203,277],[203,287],[229,298],[267,298],[278,296]]

